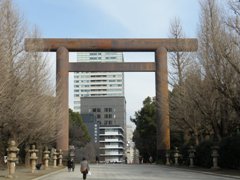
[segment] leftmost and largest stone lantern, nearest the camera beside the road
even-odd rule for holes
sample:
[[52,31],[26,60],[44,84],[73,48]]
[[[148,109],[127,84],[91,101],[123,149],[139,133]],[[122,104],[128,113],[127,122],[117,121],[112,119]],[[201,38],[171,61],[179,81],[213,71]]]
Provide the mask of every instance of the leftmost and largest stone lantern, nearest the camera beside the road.
[[16,161],[18,160],[17,158],[17,153],[19,149],[16,146],[16,142],[14,140],[9,142],[9,147],[7,148],[7,163],[8,163],[8,177],[12,178],[13,174],[15,173],[16,170]]

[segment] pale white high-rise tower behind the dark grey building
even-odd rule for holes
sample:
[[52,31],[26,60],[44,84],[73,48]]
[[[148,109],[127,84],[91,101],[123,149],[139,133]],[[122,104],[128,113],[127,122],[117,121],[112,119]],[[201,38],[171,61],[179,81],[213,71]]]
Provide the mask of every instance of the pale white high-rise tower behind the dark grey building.
[[[123,62],[122,52],[80,52],[77,62]],[[75,72],[74,107],[81,113],[81,97],[124,96],[122,72]]]

